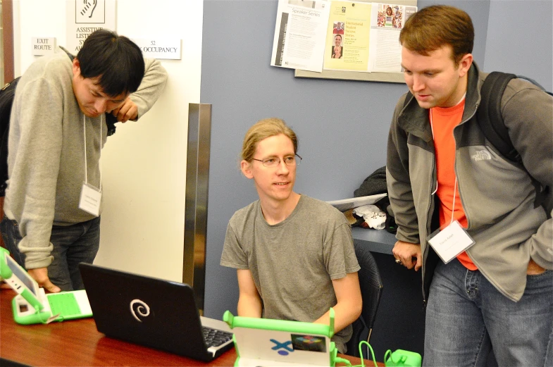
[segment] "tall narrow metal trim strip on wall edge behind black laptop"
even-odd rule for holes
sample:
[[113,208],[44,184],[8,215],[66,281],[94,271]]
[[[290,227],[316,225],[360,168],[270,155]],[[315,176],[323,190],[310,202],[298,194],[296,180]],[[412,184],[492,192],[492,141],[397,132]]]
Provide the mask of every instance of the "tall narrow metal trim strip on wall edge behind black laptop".
[[194,288],[196,303],[202,314],[206,282],[210,149],[211,104],[189,104],[182,282]]

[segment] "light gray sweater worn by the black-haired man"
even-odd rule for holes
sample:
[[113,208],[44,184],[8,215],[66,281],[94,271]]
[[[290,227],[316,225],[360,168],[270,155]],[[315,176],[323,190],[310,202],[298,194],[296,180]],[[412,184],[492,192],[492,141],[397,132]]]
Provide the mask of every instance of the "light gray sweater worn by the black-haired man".
[[[142,84],[130,96],[138,118],[154,105],[167,80],[159,61],[144,62]],[[32,63],[15,90],[4,211],[19,224],[27,269],[51,263],[52,225],[94,218],[79,209],[80,192],[85,175],[89,185],[101,187],[99,160],[107,129],[103,114],[89,118],[80,111],[72,79],[73,63],[58,49]]]

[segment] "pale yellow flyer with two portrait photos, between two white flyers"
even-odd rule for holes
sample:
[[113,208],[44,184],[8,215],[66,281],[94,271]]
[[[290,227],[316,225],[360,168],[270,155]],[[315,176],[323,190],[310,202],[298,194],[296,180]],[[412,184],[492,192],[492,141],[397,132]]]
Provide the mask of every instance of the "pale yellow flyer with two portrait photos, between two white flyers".
[[325,40],[325,70],[368,71],[371,3],[332,1]]

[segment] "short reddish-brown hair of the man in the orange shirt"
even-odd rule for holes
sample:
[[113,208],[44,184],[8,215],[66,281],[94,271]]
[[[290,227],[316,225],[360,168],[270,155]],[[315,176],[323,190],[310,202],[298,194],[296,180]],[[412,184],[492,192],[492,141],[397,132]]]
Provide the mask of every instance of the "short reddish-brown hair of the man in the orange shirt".
[[453,61],[471,54],[474,44],[474,27],[465,11],[453,6],[433,5],[417,11],[405,22],[399,33],[399,43],[409,51],[428,56],[442,46],[452,46]]

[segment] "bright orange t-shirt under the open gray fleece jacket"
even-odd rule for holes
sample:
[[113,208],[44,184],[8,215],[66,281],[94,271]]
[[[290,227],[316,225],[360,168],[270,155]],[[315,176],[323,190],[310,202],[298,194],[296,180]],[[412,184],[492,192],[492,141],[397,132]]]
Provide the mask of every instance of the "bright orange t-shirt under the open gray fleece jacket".
[[[465,100],[449,108],[434,107],[430,109],[430,121],[434,135],[434,149],[437,168],[437,197],[440,198],[440,228],[453,220],[458,220],[463,228],[468,227],[465,211],[459,196],[459,184],[455,175],[455,139],[453,129],[461,123]],[[453,197],[455,193],[455,199]],[[468,268],[478,269],[468,257],[466,251],[457,259]]]

